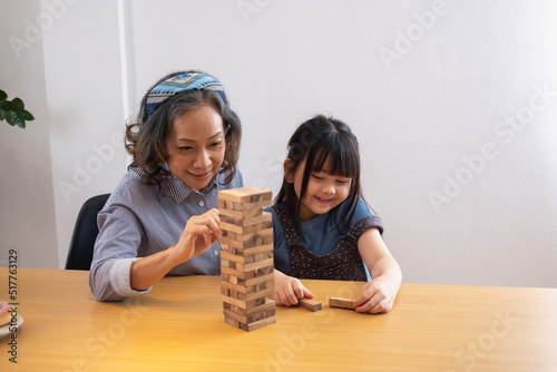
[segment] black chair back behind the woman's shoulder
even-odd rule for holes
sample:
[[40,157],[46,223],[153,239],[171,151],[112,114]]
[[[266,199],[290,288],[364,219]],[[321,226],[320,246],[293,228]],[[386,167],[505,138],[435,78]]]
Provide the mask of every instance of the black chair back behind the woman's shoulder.
[[97,195],[84,203],[71,235],[66,270],[89,270],[91,267],[95,239],[99,234],[97,214],[102,209],[109,196],[110,194]]

